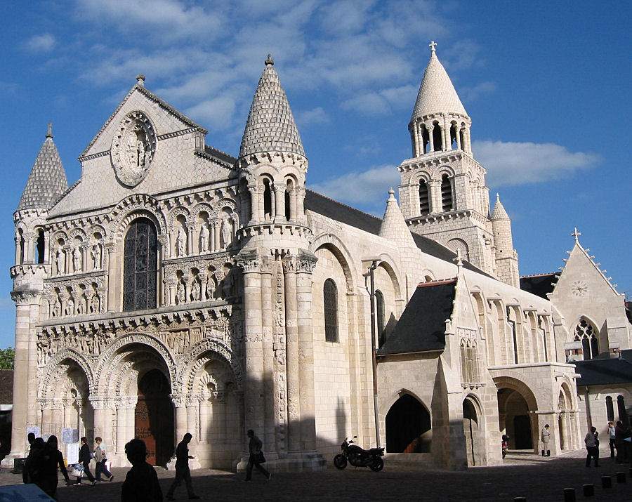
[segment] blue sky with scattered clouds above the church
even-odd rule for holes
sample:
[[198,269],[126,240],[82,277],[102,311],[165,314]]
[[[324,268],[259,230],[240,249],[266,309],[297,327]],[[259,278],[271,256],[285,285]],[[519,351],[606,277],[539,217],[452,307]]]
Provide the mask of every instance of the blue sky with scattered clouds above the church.
[[[26,6],[26,7],[25,7]],[[632,39],[627,2],[4,1],[0,346],[13,344],[12,214],[53,121],[77,157],[134,83],[236,154],[270,52],[310,159],[308,184],[380,214],[437,41],[472,118],[475,158],[513,218],[520,272],[550,272],[573,227],[619,291],[629,266]]]

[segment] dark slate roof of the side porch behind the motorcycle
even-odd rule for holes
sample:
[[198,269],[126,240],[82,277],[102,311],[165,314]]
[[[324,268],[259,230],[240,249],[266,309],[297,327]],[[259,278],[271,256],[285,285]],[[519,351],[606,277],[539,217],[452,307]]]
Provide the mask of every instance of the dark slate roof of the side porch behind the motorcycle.
[[444,350],[445,322],[452,316],[455,296],[456,279],[419,284],[377,355]]

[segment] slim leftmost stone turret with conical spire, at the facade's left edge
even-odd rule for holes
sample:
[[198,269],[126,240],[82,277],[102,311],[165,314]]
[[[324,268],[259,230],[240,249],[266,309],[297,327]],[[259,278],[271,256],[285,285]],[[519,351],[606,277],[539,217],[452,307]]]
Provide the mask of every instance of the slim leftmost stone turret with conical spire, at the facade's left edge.
[[15,301],[15,371],[13,374],[13,416],[11,453],[6,463],[13,467],[13,458],[25,455],[26,428],[37,423],[37,338],[44,279],[51,273],[48,210],[67,190],[68,182],[59,152],[53,143],[53,124],[48,124],[46,140],[41,145],[29,174],[15,223],[15,265],[11,267]]

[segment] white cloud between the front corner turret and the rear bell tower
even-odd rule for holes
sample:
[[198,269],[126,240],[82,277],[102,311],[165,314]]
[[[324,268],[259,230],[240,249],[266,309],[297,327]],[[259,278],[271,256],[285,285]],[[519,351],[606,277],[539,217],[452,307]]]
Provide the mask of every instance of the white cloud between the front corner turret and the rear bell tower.
[[322,183],[310,185],[312,190],[346,204],[357,204],[369,211],[384,208],[388,189],[400,184],[400,173],[395,166],[377,166],[367,171],[345,173]]

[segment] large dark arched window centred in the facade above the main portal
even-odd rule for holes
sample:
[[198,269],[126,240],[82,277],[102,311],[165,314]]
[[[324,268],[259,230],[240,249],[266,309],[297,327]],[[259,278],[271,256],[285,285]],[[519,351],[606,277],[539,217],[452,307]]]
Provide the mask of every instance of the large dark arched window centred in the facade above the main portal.
[[158,239],[147,218],[134,220],[125,236],[123,310],[156,308]]

